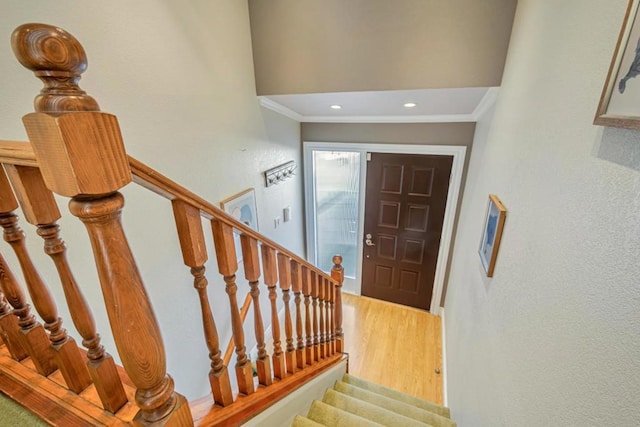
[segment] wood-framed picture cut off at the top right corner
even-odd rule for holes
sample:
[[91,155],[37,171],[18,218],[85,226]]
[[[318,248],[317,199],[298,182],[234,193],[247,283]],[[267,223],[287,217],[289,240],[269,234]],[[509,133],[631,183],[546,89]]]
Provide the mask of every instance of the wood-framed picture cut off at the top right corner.
[[640,130],[640,0],[629,0],[593,121]]

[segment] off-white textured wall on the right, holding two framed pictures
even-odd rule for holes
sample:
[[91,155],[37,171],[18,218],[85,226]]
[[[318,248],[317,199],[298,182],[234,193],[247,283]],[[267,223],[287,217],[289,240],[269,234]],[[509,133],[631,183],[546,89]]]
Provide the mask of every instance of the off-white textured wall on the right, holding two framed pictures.
[[[460,426],[640,419],[640,133],[592,125],[626,4],[518,2],[445,301]],[[492,279],[477,254],[489,193],[508,209]]]

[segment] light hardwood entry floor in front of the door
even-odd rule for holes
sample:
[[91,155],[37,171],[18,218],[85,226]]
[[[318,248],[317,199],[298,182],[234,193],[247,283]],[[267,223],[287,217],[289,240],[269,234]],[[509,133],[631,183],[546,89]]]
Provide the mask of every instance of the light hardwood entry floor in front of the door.
[[439,316],[343,294],[342,324],[349,373],[442,404]]

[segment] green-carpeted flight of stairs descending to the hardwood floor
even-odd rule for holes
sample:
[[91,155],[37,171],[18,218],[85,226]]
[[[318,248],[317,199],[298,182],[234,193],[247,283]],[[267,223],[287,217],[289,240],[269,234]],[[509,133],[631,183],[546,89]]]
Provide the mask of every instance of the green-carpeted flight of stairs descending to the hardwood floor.
[[292,427],[456,427],[449,408],[346,374]]

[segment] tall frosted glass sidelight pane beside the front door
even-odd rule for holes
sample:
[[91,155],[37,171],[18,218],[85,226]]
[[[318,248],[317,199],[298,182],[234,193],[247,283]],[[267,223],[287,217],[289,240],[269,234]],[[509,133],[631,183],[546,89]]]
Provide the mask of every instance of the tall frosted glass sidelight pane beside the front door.
[[345,276],[356,275],[360,153],[314,151],[316,263],[331,271],[342,255]]

